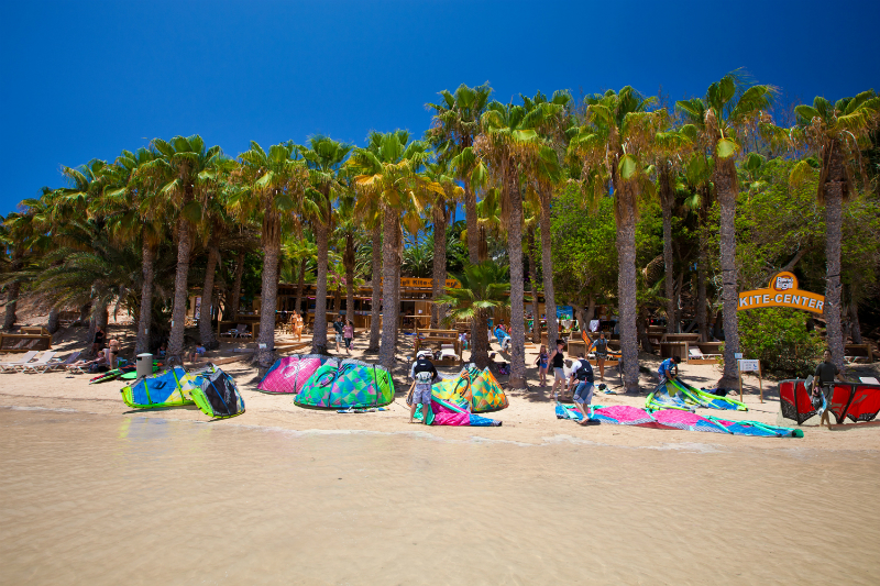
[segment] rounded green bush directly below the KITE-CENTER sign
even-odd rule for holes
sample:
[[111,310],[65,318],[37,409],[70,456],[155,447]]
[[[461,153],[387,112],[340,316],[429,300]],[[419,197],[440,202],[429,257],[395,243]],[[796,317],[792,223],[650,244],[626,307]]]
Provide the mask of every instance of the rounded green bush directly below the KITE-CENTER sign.
[[806,378],[822,357],[825,342],[806,331],[807,314],[798,309],[750,309],[739,313],[744,358],[758,358],[766,373]]

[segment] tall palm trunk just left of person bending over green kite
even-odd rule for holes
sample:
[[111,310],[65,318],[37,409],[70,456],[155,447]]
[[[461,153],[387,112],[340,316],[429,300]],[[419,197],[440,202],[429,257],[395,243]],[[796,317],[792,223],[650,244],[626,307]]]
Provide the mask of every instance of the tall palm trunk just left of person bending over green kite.
[[635,186],[619,180],[617,206],[617,298],[620,305],[620,353],[624,360],[624,391],[639,390],[639,350],[636,328],[636,194]]

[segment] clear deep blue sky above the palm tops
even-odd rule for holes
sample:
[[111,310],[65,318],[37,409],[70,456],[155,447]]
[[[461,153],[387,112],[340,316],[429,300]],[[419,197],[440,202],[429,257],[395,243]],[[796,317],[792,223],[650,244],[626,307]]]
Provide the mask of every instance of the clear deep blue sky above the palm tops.
[[255,140],[430,123],[441,89],[495,97],[662,86],[702,95],[745,67],[788,96],[880,90],[877,2],[3,2],[0,214],[61,165],[201,134]]

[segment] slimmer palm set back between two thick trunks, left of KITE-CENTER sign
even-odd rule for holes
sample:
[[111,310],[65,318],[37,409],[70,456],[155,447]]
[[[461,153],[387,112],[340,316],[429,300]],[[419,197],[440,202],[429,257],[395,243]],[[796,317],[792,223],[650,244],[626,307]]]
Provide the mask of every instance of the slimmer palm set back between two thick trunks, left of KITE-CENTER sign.
[[679,330],[672,261],[672,208],[675,203],[675,174],[681,166],[682,157],[688,155],[688,150],[692,145],[688,132],[689,129],[658,132],[653,143],[653,159],[659,184],[658,195],[663,214],[663,267],[666,269],[663,287],[669,333],[678,333]]

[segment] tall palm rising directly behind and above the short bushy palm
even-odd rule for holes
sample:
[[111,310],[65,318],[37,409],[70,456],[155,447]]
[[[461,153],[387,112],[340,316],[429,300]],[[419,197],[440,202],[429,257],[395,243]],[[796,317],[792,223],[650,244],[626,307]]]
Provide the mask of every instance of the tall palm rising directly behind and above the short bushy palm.
[[440,103],[426,104],[435,111],[432,128],[428,131],[430,143],[440,153],[441,162],[451,162],[464,189],[464,219],[468,225],[468,251],[471,262],[477,262],[476,195],[472,174],[479,167],[473,153],[474,139],[480,134],[480,119],[488,103],[492,88],[488,82],[474,88],[464,84],[454,93],[440,92]]

